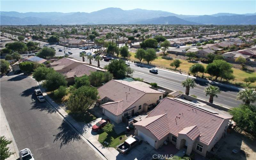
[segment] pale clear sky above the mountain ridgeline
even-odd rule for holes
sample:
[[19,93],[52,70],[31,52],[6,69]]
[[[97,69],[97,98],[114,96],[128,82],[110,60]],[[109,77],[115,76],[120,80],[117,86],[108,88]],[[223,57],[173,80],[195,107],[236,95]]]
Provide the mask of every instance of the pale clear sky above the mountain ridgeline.
[[36,0],[0,0],[1,11],[16,12],[93,12],[108,7],[117,7],[123,10],[135,8],[147,10],[162,10],[176,14],[186,15],[204,15],[220,12],[228,13],[254,13],[256,12],[256,1],[228,0],[228,1],[210,1],[210,0],[69,0],[69,1],[36,1]]

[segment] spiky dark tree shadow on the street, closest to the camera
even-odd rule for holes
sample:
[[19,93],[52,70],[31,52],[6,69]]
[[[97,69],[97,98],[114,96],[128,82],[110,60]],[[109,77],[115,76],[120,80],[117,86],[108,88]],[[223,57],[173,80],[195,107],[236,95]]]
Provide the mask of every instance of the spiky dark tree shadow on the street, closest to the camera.
[[63,145],[66,145],[70,142],[74,142],[81,139],[81,136],[79,133],[74,131],[67,122],[63,119],[61,125],[58,127],[58,130],[60,131],[57,135],[54,135],[55,138],[53,140],[53,143],[55,141],[60,141],[60,148]]

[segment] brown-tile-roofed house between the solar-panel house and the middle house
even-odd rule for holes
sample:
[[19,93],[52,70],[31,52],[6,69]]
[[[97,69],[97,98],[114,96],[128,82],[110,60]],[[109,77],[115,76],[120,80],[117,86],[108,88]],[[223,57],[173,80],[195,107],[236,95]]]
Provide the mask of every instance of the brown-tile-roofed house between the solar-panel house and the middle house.
[[91,72],[96,71],[106,71],[105,69],[90,66],[86,62],[71,58],[62,58],[52,62],[50,63],[50,67],[65,76],[69,84],[74,83],[75,77],[81,77],[84,75],[90,76]]

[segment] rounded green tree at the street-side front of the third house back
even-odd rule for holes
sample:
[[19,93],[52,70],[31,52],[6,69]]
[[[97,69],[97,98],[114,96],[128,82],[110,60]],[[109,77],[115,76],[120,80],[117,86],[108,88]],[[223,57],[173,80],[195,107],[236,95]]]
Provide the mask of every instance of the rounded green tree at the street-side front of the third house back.
[[49,72],[46,76],[46,79],[43,83],[43,86],[48,90],[48,91],[54,91],[58,89],[61,85],[62,86],[67,86],[67,81],[63,75],[60,73],[54,71],[54,72]]

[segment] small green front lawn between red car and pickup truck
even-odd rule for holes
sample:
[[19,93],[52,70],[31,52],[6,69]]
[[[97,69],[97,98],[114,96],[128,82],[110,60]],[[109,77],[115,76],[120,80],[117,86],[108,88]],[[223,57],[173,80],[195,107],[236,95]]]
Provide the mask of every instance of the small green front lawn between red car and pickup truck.
[[[101,131],[101,133],[99,134],[99,139],[98,139],[98,141],[102,144],[102,146],[113,147],[113,148],[116,148],[117,145],[123,143],[124,140],[126,140],[125,132],[116,134],[115,131],[113,131],[109,134]],[[106,145],[104,143],[104,141],[108,142],[109,144]]]

